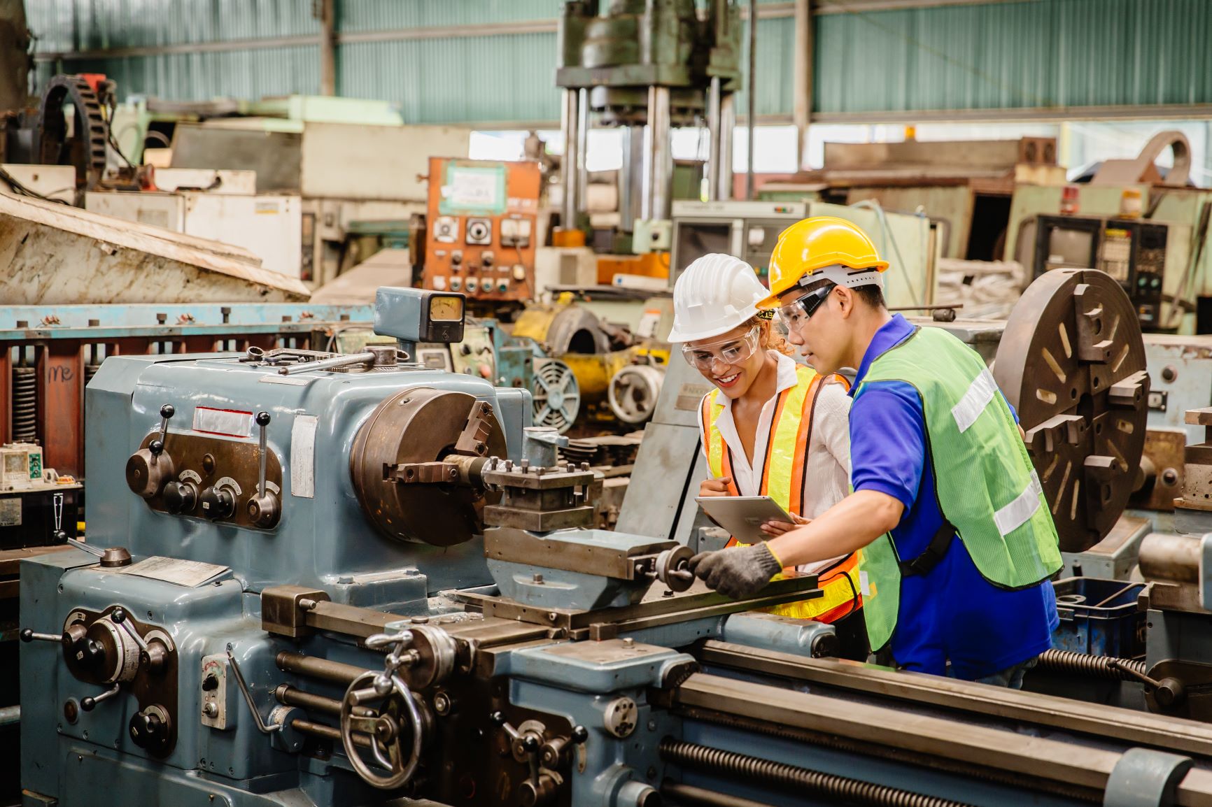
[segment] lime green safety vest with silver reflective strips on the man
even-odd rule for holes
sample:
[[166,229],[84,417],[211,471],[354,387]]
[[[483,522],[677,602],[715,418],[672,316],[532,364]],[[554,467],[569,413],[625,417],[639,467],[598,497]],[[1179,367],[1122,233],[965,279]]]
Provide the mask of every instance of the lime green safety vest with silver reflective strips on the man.
[[[1000,588],[1023,589],[1056,573],[1059,539],[1044,490],[1010,406],[976,350],[942,328],[917,328],[871,362],[854,400],[869,384],[886,380],[917,390],[939,509],[981,576]],[[873,651],[897,626],[901,561],[888,533],[863,550],[870,590],[863,613]]]

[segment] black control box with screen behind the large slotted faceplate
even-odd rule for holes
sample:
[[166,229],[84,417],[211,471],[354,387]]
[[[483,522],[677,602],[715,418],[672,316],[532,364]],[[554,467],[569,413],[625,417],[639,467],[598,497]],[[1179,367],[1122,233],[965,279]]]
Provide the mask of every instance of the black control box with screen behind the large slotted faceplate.
[[1166,224],[1120,218],[1040,216],[1035,225],[1035,270],[1098,269],[1132,299],[1140,327],[1161,327],[1166,273]]

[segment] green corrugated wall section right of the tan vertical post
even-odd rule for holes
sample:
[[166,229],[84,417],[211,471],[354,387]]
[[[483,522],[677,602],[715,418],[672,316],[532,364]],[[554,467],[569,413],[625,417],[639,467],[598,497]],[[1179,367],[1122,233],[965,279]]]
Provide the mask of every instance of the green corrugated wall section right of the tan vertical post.
[[1212,103],[1207,0],[1035,0],[816,18],[823,113]]

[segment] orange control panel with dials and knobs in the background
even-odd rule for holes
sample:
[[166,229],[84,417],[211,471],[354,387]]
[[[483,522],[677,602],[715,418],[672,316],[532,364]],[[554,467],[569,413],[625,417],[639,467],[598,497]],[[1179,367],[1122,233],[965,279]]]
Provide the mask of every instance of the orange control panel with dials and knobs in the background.
[[537,162],[429,159],[422,285],[469,302],[534,296]]

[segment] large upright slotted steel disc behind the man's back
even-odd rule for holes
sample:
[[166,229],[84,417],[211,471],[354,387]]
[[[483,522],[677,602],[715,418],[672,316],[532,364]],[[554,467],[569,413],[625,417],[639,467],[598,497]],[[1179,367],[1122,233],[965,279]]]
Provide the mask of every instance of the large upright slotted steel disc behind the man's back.
[[1149,377],[1132,302],[1103,271],[1048,271],[1014,305],[993,374],[1027,431],[1060,549],[1090,549],[1140,474]]

